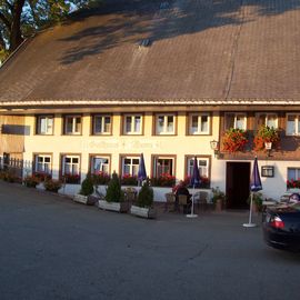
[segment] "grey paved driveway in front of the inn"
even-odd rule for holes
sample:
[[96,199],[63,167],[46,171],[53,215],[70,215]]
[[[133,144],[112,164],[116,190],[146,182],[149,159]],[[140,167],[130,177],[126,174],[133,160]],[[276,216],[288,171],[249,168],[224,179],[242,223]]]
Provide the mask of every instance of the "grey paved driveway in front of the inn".
[[143,220],[0,182],[0,299],[298,300],[300,256],[247,220]]

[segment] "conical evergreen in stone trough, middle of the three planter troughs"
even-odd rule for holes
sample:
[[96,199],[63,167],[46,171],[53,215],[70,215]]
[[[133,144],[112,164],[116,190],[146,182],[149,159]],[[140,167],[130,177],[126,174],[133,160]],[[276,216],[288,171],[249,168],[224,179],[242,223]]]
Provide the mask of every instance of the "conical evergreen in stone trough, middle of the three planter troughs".
[[104,200],[99,200],[98,203],[99,208],[103,210],[118,212],[127,212],[129,210],[129,203],[124,202],[124,193],[121,190],[120,179],[116,172],[112,173],[108,183]]

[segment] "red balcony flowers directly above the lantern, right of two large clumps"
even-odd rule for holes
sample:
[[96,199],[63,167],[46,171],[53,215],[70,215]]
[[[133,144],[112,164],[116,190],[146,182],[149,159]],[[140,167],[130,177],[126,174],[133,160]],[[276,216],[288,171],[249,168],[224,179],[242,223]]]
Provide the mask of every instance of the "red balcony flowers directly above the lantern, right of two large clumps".
[[273,127],[261,126],[254,137],[254,150],[256,151],[267,151],[264,143],[271,142],[272,148],[279,146],[280,137],[278,131]]

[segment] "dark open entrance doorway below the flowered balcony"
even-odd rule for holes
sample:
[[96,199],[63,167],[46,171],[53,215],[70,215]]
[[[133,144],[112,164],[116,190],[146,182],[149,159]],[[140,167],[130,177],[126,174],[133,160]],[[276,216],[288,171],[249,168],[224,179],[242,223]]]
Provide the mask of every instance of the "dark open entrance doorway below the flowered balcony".
[[247,199],[250,193],[250,162],[227,162],[226,194],[227,208],[249,208]]

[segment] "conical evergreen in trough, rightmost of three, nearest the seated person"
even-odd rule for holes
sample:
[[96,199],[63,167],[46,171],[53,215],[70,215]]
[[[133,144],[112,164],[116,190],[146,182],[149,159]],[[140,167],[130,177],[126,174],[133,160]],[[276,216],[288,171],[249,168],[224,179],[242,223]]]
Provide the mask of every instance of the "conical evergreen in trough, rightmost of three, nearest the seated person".
[[149,180],[143,182],[137,203],[131,206],[130,213],[149,219],[157,217],[157,211],[153,208],[153,189],[150,187]]

